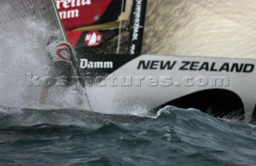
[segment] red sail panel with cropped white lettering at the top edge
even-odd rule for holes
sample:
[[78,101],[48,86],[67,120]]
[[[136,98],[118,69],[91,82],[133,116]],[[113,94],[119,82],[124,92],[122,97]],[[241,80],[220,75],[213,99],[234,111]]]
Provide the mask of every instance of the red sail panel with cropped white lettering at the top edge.
[[112,0],[55,0],[65,30],[97,22]]

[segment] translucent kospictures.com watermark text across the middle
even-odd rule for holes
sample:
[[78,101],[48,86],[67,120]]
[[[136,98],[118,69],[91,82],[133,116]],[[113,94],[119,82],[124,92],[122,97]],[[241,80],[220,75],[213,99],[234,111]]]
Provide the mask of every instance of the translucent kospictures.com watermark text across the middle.
[[[229,78],[226,76],[212,76],[212,77],[204,77],[204,76],[198,76],[198,77],[191,77],[186,76],[183,78],[179,78],[178,81],[170,76],[163,76],[163,77],[155,77],[155,76],[119,76],[116,77],[114,74],[110,74],[107,77],[71,77],[73,82],[77,86],[80,86],[79,82],[83,81],[86,86],[110,86],[110,87],[116,87],[116,86],[122,86],[122,87],[129,87],[129,86],[149,86],[149,87],[156,87],[156,86],[162,86],[162,87],[205,87],[205,86],[212,86],[212,87],[227,87],[229,86]],[[27,73],[27,86],[67,86],[67,77],[58,77],[57,79],[54,79],[50,76],[42,77],[34,77],[32,73]]]

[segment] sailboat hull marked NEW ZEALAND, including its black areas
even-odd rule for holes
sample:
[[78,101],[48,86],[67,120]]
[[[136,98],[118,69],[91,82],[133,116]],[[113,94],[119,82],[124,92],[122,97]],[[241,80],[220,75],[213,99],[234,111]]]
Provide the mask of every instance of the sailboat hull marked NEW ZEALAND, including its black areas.
[[[159,55],[86,58],[91,62],[108,59],[113,63],[113,68],[94,66],[83,70],[94,73],[93,78],[108,74],[101,82],[93,79],[94,85],[114,86],[118,89],[116,96],[123,96],[120,98],[124,103],[131,100],[131,107],[143,103],[154,115],[159,108],[170,104],[193,107],[222,118],[253,119],[254,59]],[[126,62],[122,63],[122,59]],[[114,76],[115,85],[110,84],[109,76]],[[106,87],[102,87],[104,93]]]

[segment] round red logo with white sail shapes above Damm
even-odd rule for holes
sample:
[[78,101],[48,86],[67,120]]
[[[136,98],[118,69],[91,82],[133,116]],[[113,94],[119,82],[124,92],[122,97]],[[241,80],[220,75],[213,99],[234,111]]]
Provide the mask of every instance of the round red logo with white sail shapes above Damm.
[[102,41],[102,35],[99,31],[90,31],[85,35],[84,42],[89,47],[98,46]]

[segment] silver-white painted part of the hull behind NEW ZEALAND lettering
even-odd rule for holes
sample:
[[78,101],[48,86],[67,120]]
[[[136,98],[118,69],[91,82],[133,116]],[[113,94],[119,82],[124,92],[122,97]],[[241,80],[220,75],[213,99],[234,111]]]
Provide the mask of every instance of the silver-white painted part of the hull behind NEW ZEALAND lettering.
[[[151,66],[153,69],[150,69],[152,61],[156,62],[154,62],[154,65]],[[166,64],[168,61],[171,62],[170,64],[175,61],[176,63],[173,65],[171,70],[168,70],[167,68],[161,70],[161,63]],[[183,69],[188,70],[181,70],[181,67],[185,65],[185,61],[189,62],[189,64],[183,67]],[[150,65],[148,66],[148,69],[142,68],[142,62],[145,62],[145,64],[149,62]],[[140,63],[141,65],[139,67]],[[209,65],[208,71],[206,63]],[[214,67],[212,67],[213,63],[215,63]],[[229,65],[229,69],[226,68],[227,65],[225,65],[225,63]],[[241,72],[237,71],[235,68],[233,71],[231,71],[231,66],[234,65],[234,63],[237,63],[238,67],[243,65]],[[133,98],[131,106],[134,104],[143,103],[145,104],[144,106],[147,108],[147,110],[152,110],[159,105],[195,92],[207,89],[225,89],[237,94],[241,98],[245,109],[245,121],[250,121],[256,104],[256,89],[254,88],[256,81],[256,73],[254,69],[255,64],[256,60],[253,59],[141,55],[126,63],[112,74],[117,77],[117,86],[115,88],[118,89],[116,90],[118,94],[116,95],[123,96],[123,102]],[[210,71],[211,67],[212,71]],[[199,70],[200,68],[201,70]],[[140,76],[145,77],[145,79],[148,77],[156,77],[159,81],[158,85],[149,86],[144,79],[141,80],[141,86],[138,86],[138,84],[135,82],[135,77]],[[172,85],[166,87],[159,85],[161,82],[161,77],[166,76],[172,78]],[[119,78],[122,77],[132,77],[132,86],[122,86],[119,82]],[[186,79],[187,77],[193,79],[188,80]],[[201,82],[202,85],[200,82],[198,82],[199,78],[197,77],[204,78],[204,82]],[[223,82],[223,85],[220,85],[218,82],[216,85],[214,85],[211,77],[225,77],[228,78],[228,81],[226,80],[227,82]],[[196,78],[197,81],[195,81]],[[185,82],[183,82],[182,79]],[[206,79],[208,80],[208,84],[204,85]],[[186,84],[186,80],[188,80],[188,83],[193,84],[193,86],[191,86],[191,84]],[[105,79],[105,82],[108,82],[108,78]],[[180,86],[174,84],[175,82],[179,82]],[[107,86],[109,85],[107,84]]]

